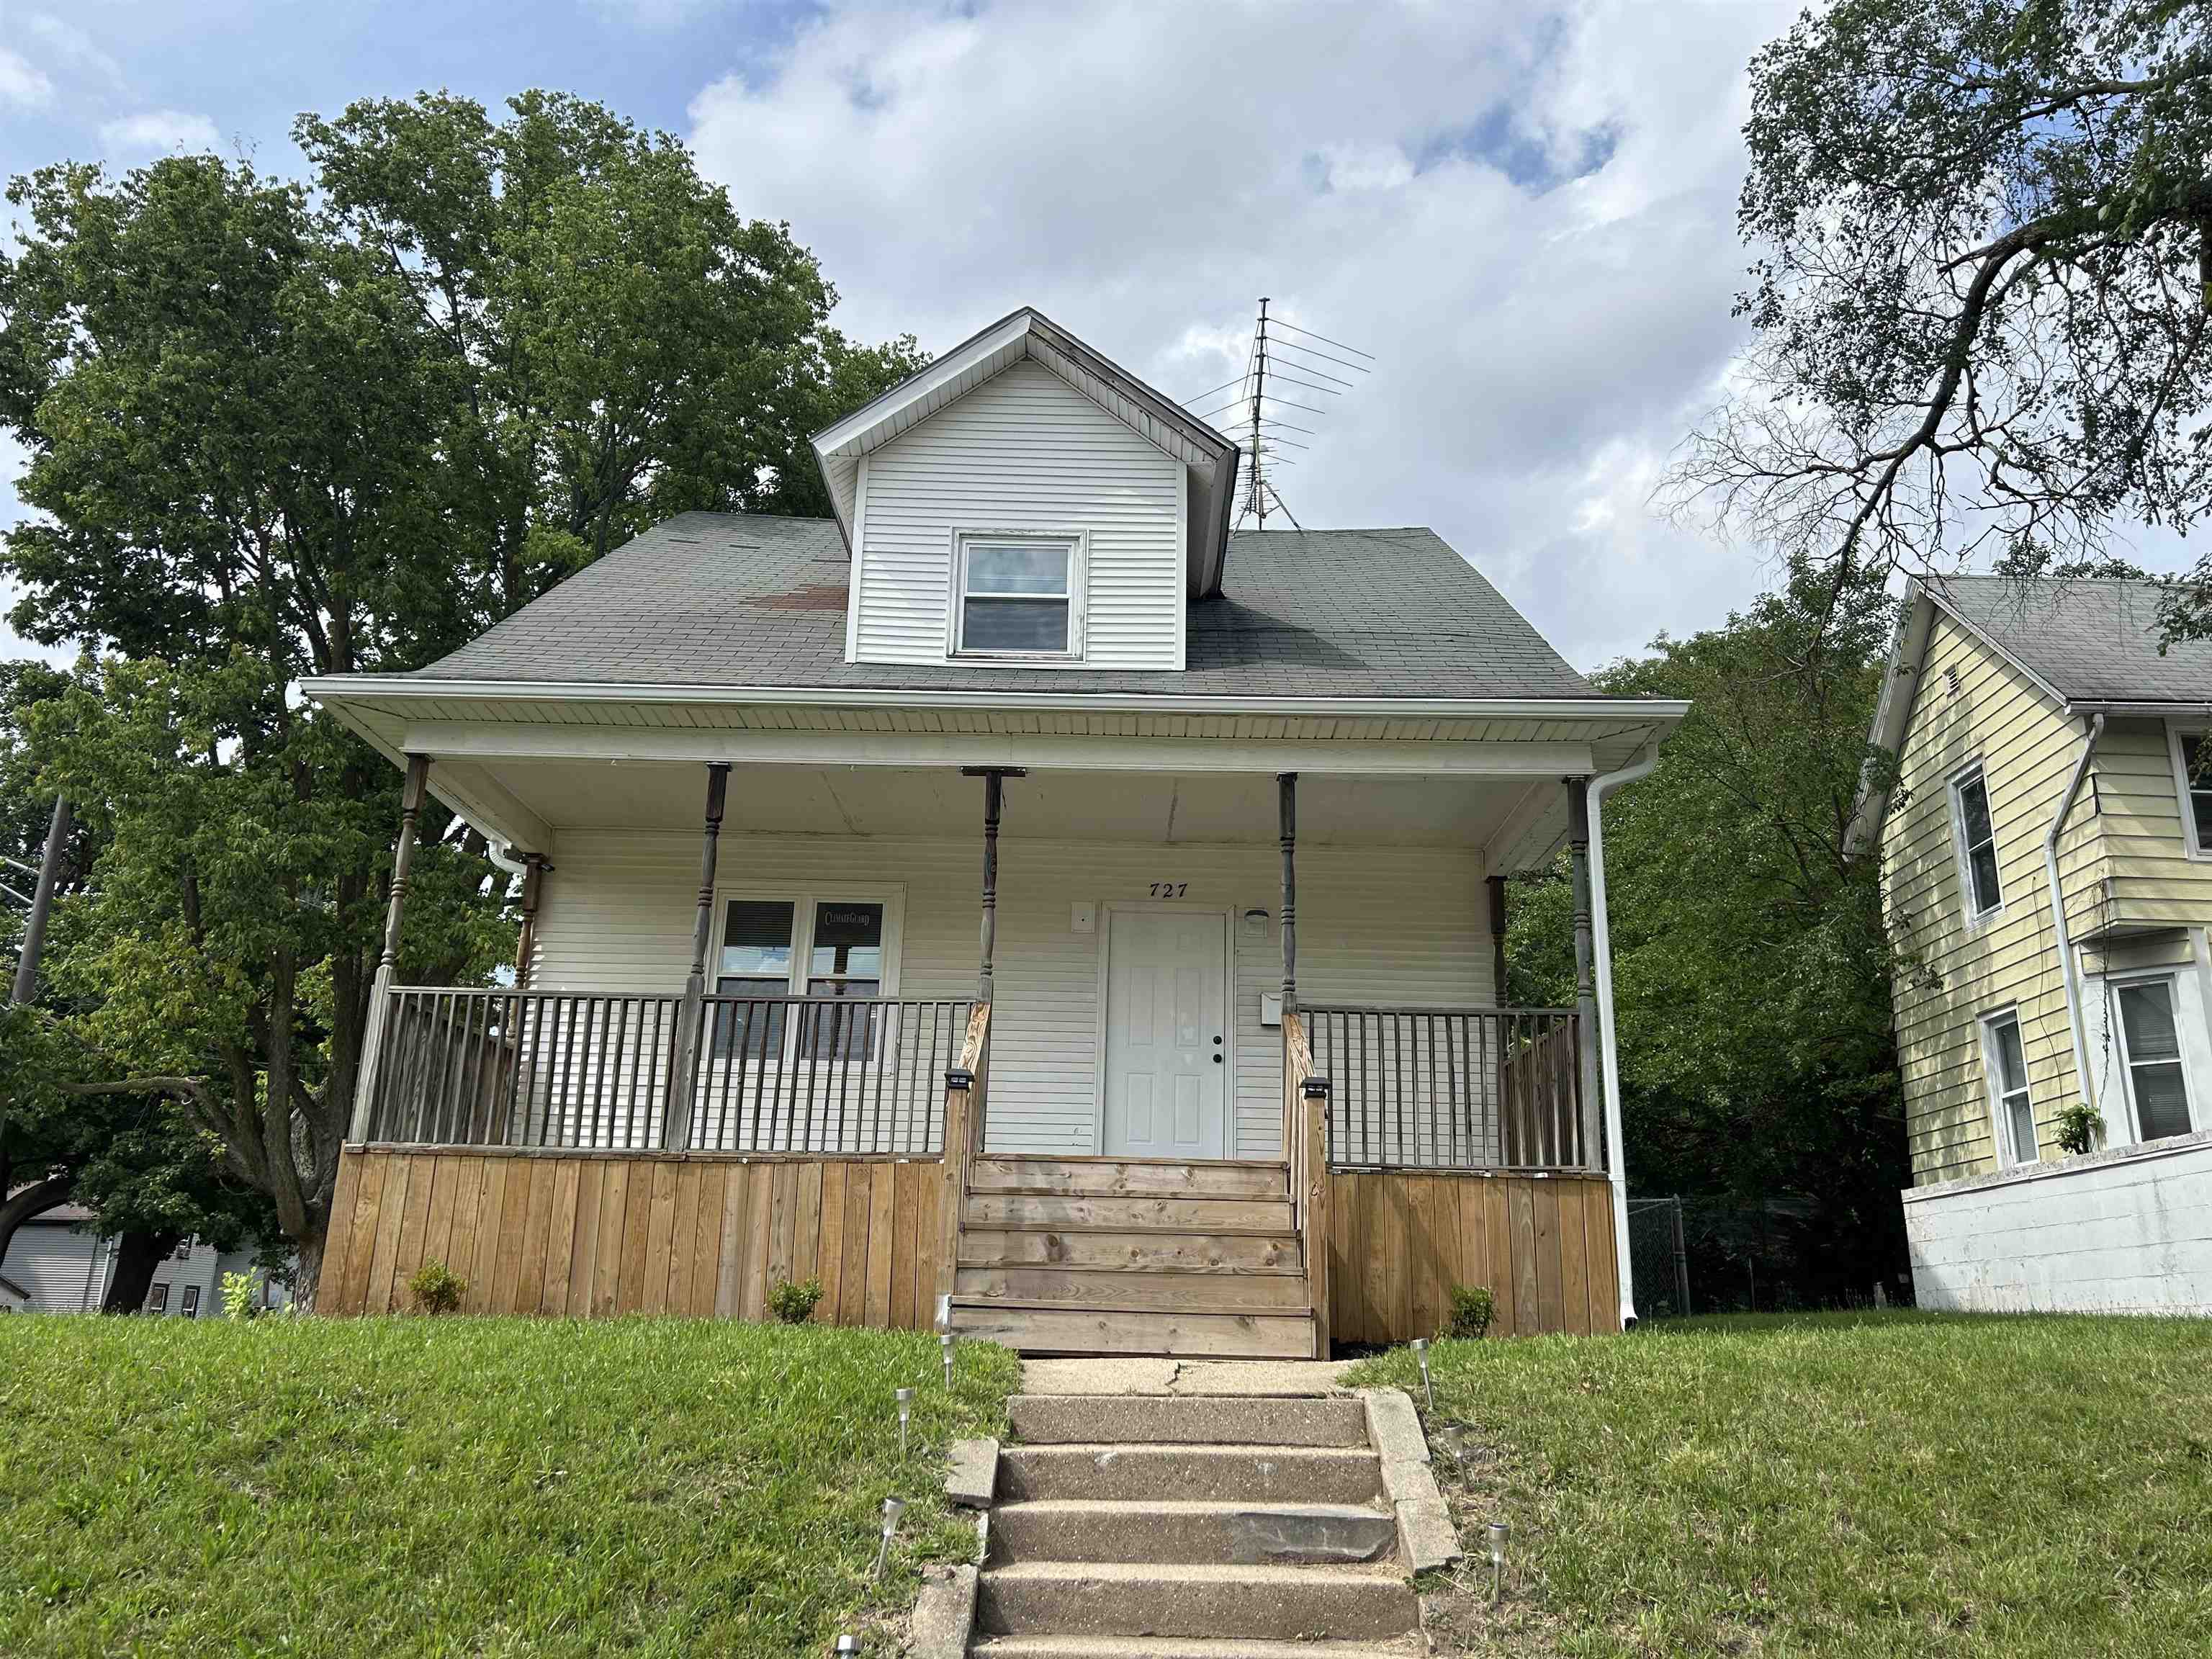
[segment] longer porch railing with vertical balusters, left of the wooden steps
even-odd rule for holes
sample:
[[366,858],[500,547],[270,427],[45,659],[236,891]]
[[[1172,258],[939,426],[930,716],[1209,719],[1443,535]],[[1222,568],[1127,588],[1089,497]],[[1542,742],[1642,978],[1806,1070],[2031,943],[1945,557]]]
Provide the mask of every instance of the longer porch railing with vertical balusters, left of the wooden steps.
[[[372,1141],[653,1150],[684,1053],[681,995],[398,987]],[[690,1150],[942,1148],[960,998],[706,998]]]

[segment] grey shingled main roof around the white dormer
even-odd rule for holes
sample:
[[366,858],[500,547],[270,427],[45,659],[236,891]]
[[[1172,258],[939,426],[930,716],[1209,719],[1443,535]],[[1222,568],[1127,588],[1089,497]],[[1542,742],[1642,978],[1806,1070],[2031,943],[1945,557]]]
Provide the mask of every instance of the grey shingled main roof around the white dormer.
[[416,679],[1194,697],[1593,697],[1480,571],[1427,529],[1243,531],[1190,599],[1188,668],[845,661],[834,520],[681,513]]

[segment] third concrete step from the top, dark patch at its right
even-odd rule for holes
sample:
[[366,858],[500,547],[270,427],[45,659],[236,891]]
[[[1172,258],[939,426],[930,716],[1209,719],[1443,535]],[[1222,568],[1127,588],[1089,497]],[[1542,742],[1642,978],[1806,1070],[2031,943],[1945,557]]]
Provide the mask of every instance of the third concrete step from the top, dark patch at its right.
[[1391,1559],[1396,1548],[1398,1517],[1360,1504],[1040,1498],[991,1511],[991,1566],[1365,1566]]

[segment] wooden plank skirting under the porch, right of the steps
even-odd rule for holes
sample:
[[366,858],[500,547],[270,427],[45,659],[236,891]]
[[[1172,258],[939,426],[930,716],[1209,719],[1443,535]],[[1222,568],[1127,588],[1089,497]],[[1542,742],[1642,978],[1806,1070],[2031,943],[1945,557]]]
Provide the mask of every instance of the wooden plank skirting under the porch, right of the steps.
[[1579,1175],[1329,1172],[1329,1336],[1436,1336],[1489,1285],[1493,1336],[1619,1329],[1610,1183]]

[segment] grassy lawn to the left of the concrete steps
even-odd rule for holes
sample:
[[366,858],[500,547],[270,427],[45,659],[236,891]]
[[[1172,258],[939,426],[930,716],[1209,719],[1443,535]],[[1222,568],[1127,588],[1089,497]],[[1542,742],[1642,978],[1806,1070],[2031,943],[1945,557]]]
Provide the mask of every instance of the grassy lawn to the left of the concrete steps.
[[973,1548],[940,1453],[1013,1385],[927,1332],[4,1318],[0,1652],[825,1652]]

